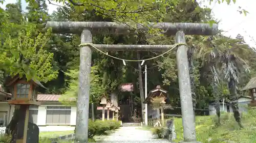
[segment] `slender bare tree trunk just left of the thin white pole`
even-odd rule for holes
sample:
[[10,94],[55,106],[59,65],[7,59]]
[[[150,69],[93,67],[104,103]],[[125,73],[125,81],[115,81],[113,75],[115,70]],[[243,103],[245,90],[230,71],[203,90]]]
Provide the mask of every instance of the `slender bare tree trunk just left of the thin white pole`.
[[[137,52],[137,58],[140,60],[140,54]],[[143,92],[143,81],[142,81],[142,70],[141,70],[141,62],[138,62],[138,69],[139,69],[139,89],[140,89],[140,101],[141,101],[141,114],[142,114],[142,121],[144,121],[144,116],[143,116],[143,109],[145,107],[144,105],[144,92]]]

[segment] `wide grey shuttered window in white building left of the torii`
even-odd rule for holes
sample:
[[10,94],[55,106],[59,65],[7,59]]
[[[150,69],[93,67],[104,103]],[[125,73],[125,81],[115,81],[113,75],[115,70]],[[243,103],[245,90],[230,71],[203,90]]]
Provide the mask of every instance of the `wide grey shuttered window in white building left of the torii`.
[[46,124],[69,125],[71,107],[47,106]]

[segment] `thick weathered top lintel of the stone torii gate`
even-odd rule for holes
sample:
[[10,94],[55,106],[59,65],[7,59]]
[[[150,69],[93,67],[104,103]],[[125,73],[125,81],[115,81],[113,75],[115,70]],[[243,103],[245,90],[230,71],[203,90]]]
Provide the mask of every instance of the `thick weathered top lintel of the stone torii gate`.
[[[47,27],[52,27],[54,33],[80,34],[82,30],[88,29],[93,34],[127,34],[132,33],[131,27],[116,22],[71,22],[71,21],[48,21]],[[166,35],[175,35],[183,31],[185,35],[216,35],[218,24],[210,26],[208,23],[150,23],[148,26],[160,28],[166,31]],[[137,24],[139,30],[145,30],[145,26]]]

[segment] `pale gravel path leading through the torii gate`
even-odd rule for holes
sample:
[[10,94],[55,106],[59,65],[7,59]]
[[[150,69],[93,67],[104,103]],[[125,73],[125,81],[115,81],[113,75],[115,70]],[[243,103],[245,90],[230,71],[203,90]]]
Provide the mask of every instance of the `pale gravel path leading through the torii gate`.
[[152,135],[151,131],[140,129],[141,127],[121,127],[111,135],[104,138],[104,143],[118,143],[118,142],[131,142],[131,143],[170,143],[168,140],[157,139]]

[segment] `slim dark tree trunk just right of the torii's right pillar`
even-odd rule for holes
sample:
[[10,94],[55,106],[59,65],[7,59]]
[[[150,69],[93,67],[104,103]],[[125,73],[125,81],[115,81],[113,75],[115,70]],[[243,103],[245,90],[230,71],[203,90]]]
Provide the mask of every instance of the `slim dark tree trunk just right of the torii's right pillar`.
[[187,50],[188,56],[188,66],[189,66],[189,76],[190,76],[190,85],[191,85],[191,96],[193,101],[193,110],[194,110],[194,117],[196,119],[196,104],[197,104],[197,95],[195,93],[195,78],[194,78],[194,63],[193,63],[193,54],[194,54],[194,47],[190,47]]

